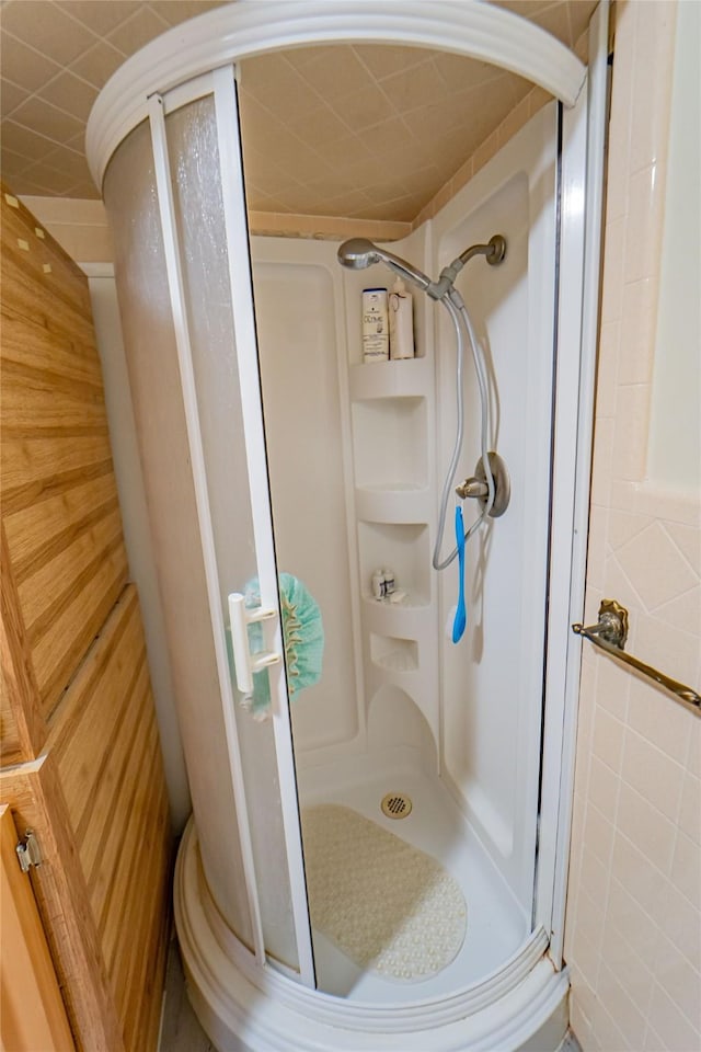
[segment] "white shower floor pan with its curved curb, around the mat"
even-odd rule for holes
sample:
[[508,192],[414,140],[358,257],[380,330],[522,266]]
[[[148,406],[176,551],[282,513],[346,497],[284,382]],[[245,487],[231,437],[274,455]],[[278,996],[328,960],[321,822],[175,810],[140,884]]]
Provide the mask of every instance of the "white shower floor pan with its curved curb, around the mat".
[[[198,864],[189,824],[175,873],[175,923],[188,996],[219,1052],[554,1052],[567,1027],[566,971],[544,956],[542,929],[526,919],[436,778],[393,757],[375,755],[333,774],[300,771],[301,805],[338,803],[377,822],[455,877],[468,905],[457,958],[423,982],[361,972],[314,933],[319,990],[274,968],[261,969],[221,921]],[[397,821],[384,794],[412,798]]]

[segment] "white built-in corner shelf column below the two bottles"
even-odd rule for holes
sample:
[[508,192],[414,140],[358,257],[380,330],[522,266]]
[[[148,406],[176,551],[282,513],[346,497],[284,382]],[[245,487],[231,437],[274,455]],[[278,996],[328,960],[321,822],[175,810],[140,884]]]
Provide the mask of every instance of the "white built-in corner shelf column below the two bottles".
[[[360,616],[368,707],[399,688],[436,742],[437,658],[428,524],[434,376],[429,357],[348,367]],[[390,571],[400,602],[372,594]]]

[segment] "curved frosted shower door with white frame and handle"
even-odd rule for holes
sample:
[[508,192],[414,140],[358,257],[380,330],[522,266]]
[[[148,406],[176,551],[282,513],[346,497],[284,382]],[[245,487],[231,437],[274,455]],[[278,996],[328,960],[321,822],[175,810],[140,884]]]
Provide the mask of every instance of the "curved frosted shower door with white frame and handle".
[[[113,158],[105,198],[203,871],[258,962],[313,985],[233,70],[153,96],[149,116]],[[279,655],[256,676],[263,712],[237,687],[231,594],[272,614],[252,648]],[[207,639],[191,647],[189,633]],[[222,750],[230,785],[214,774]]]

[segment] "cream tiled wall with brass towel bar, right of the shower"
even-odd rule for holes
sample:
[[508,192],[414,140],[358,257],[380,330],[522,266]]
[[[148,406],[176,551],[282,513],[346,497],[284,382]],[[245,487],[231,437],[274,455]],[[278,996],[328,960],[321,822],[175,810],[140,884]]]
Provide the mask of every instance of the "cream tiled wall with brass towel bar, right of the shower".
[[[587,624],[699,689],[701,501],[645,478],[676,3],[617,4]],[[701,1049],[701,720],[584,644],[565,936],[585,1052]]]

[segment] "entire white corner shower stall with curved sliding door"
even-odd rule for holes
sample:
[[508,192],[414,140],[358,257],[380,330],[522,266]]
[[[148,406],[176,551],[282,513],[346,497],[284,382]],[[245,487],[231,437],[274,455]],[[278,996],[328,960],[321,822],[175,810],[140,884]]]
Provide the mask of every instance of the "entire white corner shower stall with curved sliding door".
[[[510,479],[467,546],[458,643],[458,561],[438,573],[432,553],[460,401],[456,483],[484,458],[448,312],[414,289],[415,356],[366,364],[382,260],[347,268],[338,241],[248,229],[235,64],[332,41],[450,49],[553,95],[387,247],[435,277],[506,241],[498,266],[455,277]],[[564,1034],[606,44],[605,5],[587,71],[486,4],[242,2],[149,45],[91,115],[193,799],[176,927],[221,1050]],[[479,514],[466,502],[468,527]],[[298,689],[302,602],[324,653]]]

